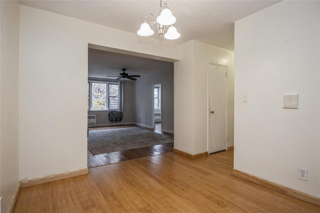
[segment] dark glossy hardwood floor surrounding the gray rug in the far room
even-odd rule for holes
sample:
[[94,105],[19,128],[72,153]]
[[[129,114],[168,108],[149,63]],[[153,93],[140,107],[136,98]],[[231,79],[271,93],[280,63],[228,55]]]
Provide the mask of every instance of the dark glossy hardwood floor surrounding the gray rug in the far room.
[[[173,136],[173,134],[165,133],[158,129],[149,129],[149,128],[140,127],[134,124],[106,126],[106,127],[90,127],[88,128],[88,130],[91,131],[91,130],[102,130],[102,129],[117,129],[117,128],[126,128],[126,127],[138,127],[138,128],[146,129],[159,134]],[[124,150],[124,151],[118,151],[118,152],[112,152],[112,153],[104,153],[99,155],[92,155],[88,150],[87,166],[88,168],[93,168],[93,167],[98,167],[98,166],[103,166],[108,164],[114,164],[122,161],[143,158],[147,156],[160,155],[163,153],[172,152],[172,149],[173,149],[173,143],[160,144],[160,145],[155,145],[150,147],[143,147],[138,149]]]

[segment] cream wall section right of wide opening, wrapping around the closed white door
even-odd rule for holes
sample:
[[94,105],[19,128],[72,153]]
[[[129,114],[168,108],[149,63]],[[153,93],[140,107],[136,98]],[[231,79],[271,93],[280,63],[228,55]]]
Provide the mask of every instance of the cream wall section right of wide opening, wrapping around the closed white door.
[[196,40],[181,47],[181,60],[174,63],[174,148],[192,155],[208,151],[208,62],[227,66],[228,146],[232,146],[234,53]]

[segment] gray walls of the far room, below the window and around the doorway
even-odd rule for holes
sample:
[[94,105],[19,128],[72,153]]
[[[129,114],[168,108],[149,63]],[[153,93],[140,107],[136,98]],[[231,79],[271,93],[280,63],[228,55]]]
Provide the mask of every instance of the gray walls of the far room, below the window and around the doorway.
[[153,128],[152,125],[152,85],[161,83],[161,128],[164,132],[173,133],[173,64],[172,71],[142,78],[136,81],[124,81],[123,84],[123,119],[111,123],[107,110],[88,111],[96,115],[96,126],[136,124]]

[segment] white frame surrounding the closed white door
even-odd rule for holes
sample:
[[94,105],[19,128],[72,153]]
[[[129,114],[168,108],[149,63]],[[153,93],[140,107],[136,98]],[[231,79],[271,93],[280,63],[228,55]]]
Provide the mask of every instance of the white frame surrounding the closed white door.
[[[208,62],[207,63],[207,75],[206,75],[206,79],[207,79],[207,99],[206,99],[206,112],[207,112],[207,116],[206,116],[206,151],[209,153],[209,115],[210,115],[210,106],[209,106],[209,96],[210,96],[210,91],[209,91],[209,83],[210,83],[210,79],[209,79],[209,74],[210,74],[210,65],[214,65],[214,66],[221,66],[221,67],[225,67],[226,72],[228,71],[228,67],[226,65],[222,65],[222,64],[217,64],[217,63],[212,63],[212,62]],[[226,120],[226,137],[228,136],[228,80],[227,77],[225,79],[226,81],[226,116],[225,116],[225,120]],[[225,150],[227,150],[228,148],[228,138],[226,140],[225,143]]]

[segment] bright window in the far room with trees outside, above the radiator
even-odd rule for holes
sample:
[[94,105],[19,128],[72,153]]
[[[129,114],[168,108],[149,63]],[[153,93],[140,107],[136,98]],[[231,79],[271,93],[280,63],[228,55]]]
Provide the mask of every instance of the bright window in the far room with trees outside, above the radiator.
[[[122,82],[121,82],[122,83]],[[88,81],[88,110],[119,110],[119,83]]]

